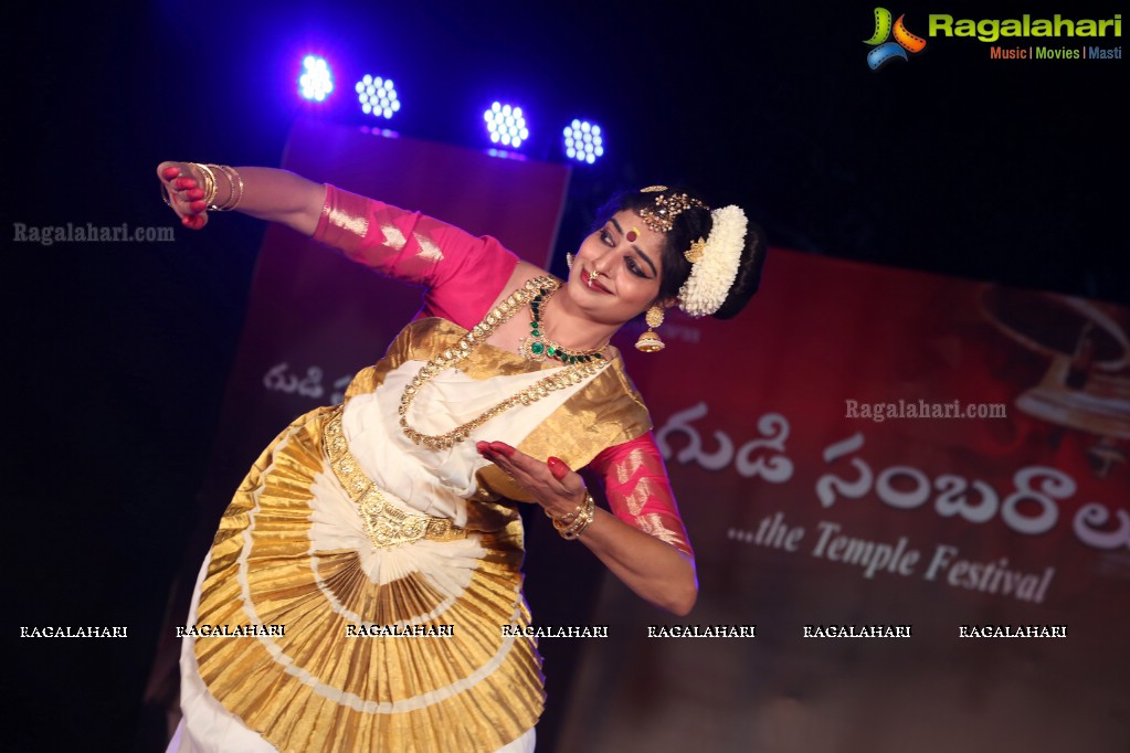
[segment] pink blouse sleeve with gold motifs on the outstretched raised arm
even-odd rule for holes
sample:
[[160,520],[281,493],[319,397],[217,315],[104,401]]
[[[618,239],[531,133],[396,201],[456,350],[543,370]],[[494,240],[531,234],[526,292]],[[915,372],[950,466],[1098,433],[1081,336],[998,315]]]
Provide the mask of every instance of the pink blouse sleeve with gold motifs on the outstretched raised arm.
[[464,327],[483,318],[518,265],[518,256],[495,238],[332,185],[325,186],[314,239],[382,274],[426,287],[423,315]]

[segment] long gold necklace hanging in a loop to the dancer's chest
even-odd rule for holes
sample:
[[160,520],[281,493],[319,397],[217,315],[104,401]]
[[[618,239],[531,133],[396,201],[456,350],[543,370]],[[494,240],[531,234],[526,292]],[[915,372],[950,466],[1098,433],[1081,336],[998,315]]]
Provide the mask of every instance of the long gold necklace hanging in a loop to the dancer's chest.
[[525,286],[512,292],[505,300],[492,309],[481,322],[466,335],[460,338],[459,343],[445,349],[438,356],[432,358],[420,367],[419,373],[412,377],[411,383],[405,387],[400,396],[400,428],[405,436],[412,440],[412,444],[424,445],[428,449],[451,449],[458,443],[467,439],[471,431],[479,428],[490,419],[505,413],[515,405],[529,405],[536,403],[550,392],[564,389],[565,387],[581,384],[581,382],[608,366],[603,358],[584,362],[570,364],[560,371],[551,374],[525,389],[522,389],[494,408],[488,409],[481,415],[462,423],[451,431],[442,435],[427,435],[408,426],[408,409],[411,406],[416,395],[420,393],[424,385],[431,382],[437,374],[458,366],[463,359],[471,354],[476,348],[483,344],[495,329],[506,322],[515,313],[525,307],[536,296],[544,296],[546,290],[553,292],[560,283],[550,277],[539,277],[527,281]]

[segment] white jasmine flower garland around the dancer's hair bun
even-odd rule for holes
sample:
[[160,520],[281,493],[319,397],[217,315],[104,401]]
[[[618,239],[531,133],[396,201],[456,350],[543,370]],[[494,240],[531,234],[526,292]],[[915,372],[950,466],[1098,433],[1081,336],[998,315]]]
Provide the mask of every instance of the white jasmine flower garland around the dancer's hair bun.
[[746,213],[733,204],[711,212],[710,238],[703,257],[692,264],[690,277],[679,288],[679,308],[690,316],[709,316],[722,307],[738,277],[746,245]]

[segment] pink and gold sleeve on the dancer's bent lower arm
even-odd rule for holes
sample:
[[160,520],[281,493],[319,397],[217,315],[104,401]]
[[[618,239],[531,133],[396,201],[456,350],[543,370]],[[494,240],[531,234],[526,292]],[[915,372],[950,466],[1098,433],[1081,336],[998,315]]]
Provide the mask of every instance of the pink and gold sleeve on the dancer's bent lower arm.
[[694,557],[663,457],[650,431],[602,450],[589,467],[603,479],[616,517]]

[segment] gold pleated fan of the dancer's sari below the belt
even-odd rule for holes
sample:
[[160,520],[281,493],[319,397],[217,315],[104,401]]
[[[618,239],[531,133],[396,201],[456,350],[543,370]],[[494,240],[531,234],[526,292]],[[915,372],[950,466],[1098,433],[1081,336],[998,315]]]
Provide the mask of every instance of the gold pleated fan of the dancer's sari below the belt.
[[[322,452],[330,415],[281,434],[224,515],[197,625],[276,634],[198,637],[200,676],[280,751],[495,751],[544,703],[533,642],[503,634],[529,624],[521,522],[376,552],[390,558],[377,583],[356,548],[313,551],[311,501],[337,483]],[[349,637],[358,624],[433,634]]]

